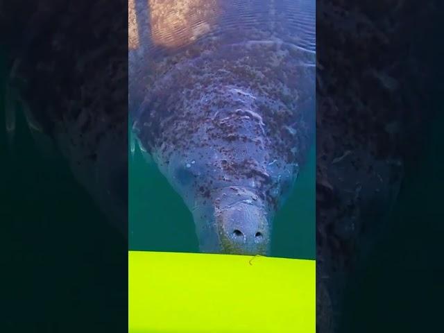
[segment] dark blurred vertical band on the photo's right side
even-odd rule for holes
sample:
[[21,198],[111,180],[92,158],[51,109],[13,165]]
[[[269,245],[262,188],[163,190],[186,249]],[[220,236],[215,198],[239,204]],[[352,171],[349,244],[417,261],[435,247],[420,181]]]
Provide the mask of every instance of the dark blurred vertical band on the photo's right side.
[[318,332],[441,326],[442,12],[317,1]]

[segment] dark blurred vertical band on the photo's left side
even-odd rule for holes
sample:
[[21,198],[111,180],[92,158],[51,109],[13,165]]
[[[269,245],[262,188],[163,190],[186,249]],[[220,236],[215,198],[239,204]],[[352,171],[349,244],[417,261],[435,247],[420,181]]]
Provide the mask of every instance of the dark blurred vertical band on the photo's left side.
[[1,332],[127,330],[127,8],[0,3]]

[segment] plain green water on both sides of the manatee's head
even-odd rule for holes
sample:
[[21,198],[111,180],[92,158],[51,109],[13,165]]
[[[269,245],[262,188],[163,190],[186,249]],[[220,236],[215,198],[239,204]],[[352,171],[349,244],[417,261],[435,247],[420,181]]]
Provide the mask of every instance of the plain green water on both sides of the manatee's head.
[[[194,223],[182,198],[138,149],[129,160],[130,249],[198,252]],[[293,193],[275,218],[271,255],[315,258],[315,176],[312,149]]]

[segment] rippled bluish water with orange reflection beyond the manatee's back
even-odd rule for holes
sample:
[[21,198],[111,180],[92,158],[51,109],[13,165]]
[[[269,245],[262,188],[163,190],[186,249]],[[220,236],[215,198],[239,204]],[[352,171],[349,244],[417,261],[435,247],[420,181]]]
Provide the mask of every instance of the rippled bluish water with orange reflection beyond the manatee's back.
[[232,61],[245,56],[246,50],[257,56],[273,49],[274,58],[263,66],[278,63],[286,54],[286,66],[315,65],[314,0],[130,0],[128,4],[129,107],[136,119],[160,78],[203,55]]

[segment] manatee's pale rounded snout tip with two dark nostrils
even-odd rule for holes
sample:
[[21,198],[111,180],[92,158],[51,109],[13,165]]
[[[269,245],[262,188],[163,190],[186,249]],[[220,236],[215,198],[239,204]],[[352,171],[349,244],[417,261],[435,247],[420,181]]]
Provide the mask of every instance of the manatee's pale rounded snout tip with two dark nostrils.
[[216,211],[216,226],[224,253],[265,255],[270,244],[266,212],[250,203],[236,203]]

